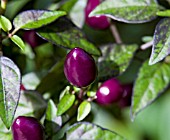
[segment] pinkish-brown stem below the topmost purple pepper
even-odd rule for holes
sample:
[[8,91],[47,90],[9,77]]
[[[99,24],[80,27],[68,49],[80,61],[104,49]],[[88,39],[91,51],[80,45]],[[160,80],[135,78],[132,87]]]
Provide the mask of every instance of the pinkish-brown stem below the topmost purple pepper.
[[117,44],[121,44],[121,43],[122,43],[122,39],[121,39],[121,37],[120,37],[120,35],[119,35],[119,32],[118,32],[118,30],[117,30],[117,27],[116,27],[116,25],[115,25],[114,23],[111,24],[110,30],[111,30],[111,32],[112,32],[112,35],[113,35],[114,38],[115,38],[116,43],[117,43]]

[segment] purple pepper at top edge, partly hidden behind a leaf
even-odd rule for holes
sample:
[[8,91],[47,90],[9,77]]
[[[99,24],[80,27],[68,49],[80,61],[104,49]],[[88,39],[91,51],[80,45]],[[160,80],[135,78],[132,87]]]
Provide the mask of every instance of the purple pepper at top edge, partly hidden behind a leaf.
[[85,22],[92,28],[95,29],[106,29],[110,26],[106,16],[94,16],[88,17],[90,12],[100,4],[100,0],[88,0],[85,7]]

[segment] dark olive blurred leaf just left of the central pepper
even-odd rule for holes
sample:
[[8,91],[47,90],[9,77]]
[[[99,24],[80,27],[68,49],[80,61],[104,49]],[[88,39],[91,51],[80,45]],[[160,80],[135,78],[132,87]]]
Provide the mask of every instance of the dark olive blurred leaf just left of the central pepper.
[[63,68],[64,60],[56,63],[48,74],[41,80],[36,90],[41,94],[48,92],[50,94],[55,94],[55,96],[59,96],[60,92],[67,85]]

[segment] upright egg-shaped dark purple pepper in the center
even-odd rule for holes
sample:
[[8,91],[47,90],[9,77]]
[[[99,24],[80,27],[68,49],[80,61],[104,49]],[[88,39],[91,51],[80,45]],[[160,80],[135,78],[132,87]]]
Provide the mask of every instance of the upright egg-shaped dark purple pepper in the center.
[[86,87],[96,78],[97,68],[93,57],[81,48],[72,49],[66,56],[64,74],[77,87]]

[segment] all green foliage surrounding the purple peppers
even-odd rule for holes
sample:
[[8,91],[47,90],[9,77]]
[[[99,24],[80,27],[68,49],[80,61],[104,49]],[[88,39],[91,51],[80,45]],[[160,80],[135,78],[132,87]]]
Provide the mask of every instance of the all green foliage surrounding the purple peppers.
[[[170,1],[102,1],[90,16],[107,16],[121,42],[114,38],[113,26],[96,30],[85,24],[86,2],[8,1],[0,16],[0,139],[11,140],[7,128],[21,115],[39,119],[49,140],[76,138],[78,131],[85,131],[79,138],[93,133],[93,139],[169,139]],[[38,35],[36,47],[24,37],[28,29]],[[81,103],[76,100],[81,89],[63,73],[65,56],[75,47],[93,55],[98,67]],[[130,107],[89,102],[98,85],[111,77],[133,85]],[[21,93],[20,84],[25,87]]]

